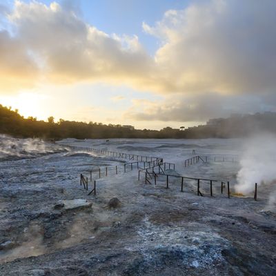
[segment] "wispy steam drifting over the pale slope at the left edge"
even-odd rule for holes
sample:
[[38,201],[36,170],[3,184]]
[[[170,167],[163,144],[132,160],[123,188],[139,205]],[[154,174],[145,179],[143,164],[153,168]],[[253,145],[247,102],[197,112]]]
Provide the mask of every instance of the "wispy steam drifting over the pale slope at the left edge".
[[16,139],[8,135],[0,135],[0,161],[38,157],[62,149],[57,144],[46,143],[41,139]]

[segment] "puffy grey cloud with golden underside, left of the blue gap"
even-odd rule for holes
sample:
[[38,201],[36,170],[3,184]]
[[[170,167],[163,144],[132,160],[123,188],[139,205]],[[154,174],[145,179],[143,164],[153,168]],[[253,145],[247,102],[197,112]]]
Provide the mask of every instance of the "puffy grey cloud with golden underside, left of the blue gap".
[[137,37],[110,36],[58,3],[15,2],[10,21],[51,81],[138,83],[150,57]]

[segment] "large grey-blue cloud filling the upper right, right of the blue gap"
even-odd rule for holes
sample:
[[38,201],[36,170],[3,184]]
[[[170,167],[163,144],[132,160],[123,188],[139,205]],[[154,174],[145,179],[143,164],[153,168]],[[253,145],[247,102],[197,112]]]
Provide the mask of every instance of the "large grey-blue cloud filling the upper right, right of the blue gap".
[[172,92],[237,94],[276,86],[276,2],[198,1],[144,30],[163,42],[155,61]]

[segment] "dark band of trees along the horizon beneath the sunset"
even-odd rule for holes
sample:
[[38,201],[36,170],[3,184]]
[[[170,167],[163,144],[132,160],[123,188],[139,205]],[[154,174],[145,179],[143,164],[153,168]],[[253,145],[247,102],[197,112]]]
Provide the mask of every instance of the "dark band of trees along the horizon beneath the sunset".
[[48,122],[37,121],[34,117],[24,119],[18,110],[11,110],[0,105],[0,133],[14,137],[39,137],[43,139],[109,139],[109,138],[230,138],[244,137],[253,132],[276,132],[276,113],[265,112],[255,115],[235,115],[227,119],[211,119],[204,126],[179,129],[163,128],[162,130],[135,130],[131,126],[101,123],[84,123],[54,117]]

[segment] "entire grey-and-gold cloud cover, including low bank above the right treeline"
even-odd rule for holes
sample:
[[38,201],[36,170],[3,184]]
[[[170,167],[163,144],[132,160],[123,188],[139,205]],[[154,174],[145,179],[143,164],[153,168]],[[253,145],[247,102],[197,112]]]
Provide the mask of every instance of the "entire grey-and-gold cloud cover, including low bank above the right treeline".
[[[15,1],[13,32],[0,31],[0,88],[104,81],[159,93],[135,102],[135,119],[193,121],[271,110],[276,88],[276,1],[192,1],[144,31],[160,47],[151,57],[137,36],[106,34],[81,19],[75,1]],[[5,15],[8,12],[8,16]],[[139,110],[138,110],[139,106]],[[230,106],[230,108],[229,108]],[[143,112],[141,112],[143,110]]]

